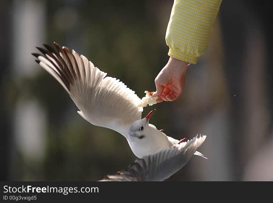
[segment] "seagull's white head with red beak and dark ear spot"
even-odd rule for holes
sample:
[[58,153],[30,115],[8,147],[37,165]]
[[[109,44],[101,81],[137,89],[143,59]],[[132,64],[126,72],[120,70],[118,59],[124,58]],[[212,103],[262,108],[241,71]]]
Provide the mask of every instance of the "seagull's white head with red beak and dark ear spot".
[[128,135],[137,139],[145,139],[147,130],[149,128],[149,119],[154,111],[155,109],[148,113],[148,115],[141,120],[133,122],[128,130]]

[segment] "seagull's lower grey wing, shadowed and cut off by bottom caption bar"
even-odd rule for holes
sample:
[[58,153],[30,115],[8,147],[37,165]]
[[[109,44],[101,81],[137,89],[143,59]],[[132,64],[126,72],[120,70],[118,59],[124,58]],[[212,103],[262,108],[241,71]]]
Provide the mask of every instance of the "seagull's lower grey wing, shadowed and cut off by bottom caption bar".
[[206,135],[138,159],[127,170],[101,181],[163,181],[180,170],[202,145]]

